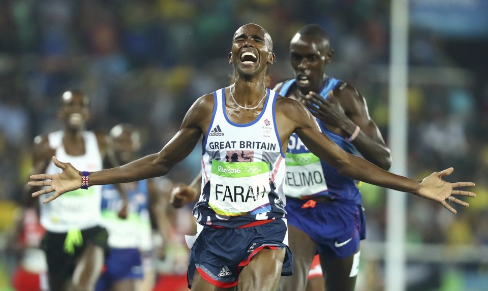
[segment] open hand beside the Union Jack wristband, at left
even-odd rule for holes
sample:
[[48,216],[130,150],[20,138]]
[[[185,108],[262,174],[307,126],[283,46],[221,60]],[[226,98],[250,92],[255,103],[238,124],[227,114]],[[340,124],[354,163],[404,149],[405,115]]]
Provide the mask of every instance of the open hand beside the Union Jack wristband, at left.
[[32,197],[37,197],[46,193],[54,191],[53,195],[44,199],[42,203],[48,203],[66,192],[73,191],[81,188],[81,173],[76,170],[70,163],[62,163],[57,160],[55,156],[52,157],[52,161],[56,167],[62,169],[63,172],[48,175],[48,174],[37,174],[32,175],[31,180],[51,180],[51,181],[31,181],[28,183],[29,186],[45,186],[46,188],[41,189],[32,194]]

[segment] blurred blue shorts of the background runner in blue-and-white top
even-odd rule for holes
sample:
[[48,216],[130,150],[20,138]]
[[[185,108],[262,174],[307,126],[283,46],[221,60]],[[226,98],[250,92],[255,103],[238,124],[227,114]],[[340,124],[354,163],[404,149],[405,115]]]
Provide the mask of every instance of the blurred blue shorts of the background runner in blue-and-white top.
[[111,248],[105,260],[102,275],[95,286],[96,291],[104,291],[117,281],[125,279],[142,279],[141,253],[137,248]]

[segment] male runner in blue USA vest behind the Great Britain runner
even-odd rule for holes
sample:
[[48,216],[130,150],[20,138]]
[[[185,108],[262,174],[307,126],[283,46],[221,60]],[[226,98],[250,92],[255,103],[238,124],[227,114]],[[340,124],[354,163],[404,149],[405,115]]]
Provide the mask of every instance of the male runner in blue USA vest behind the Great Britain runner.
[[[388,170],[391,157],[364,97],[350,84],[325,74],[334,51],[318,25],[298,30],[290,43],[295,78],[275,87],[280,95],[306,104],[320,130],[343,150],[359,153]],[[312,99],[305,96],[310,94]],[[286,210],[293,276],[281,290],[304,290],[318,252],[327,291],[352,291],[359,268],[359,242],[365,238],[361,194],[353,179],[310,152],[292,134],[286,153]]]

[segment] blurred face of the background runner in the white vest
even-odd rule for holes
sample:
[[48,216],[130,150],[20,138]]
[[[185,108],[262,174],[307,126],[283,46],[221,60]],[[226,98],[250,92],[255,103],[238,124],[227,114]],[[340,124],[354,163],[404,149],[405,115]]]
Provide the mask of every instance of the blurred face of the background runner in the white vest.
[[69,129],[82,130],[89,117],[88,99],[80,93],[65,92],[57,115]]

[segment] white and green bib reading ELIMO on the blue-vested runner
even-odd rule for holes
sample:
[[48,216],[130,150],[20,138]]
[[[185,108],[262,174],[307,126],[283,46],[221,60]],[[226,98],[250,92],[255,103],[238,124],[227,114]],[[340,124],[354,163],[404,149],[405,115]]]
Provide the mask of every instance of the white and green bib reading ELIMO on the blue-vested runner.
[[285,195],[311,196],[327,190],[320,158],[311,152],[286,153]]

